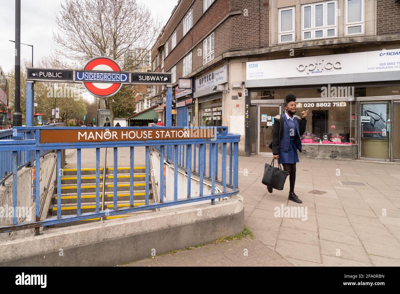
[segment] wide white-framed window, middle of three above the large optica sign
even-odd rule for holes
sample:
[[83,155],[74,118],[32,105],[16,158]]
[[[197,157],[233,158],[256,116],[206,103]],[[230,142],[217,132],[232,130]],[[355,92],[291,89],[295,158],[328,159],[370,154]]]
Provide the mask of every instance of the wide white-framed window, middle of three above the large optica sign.
[[337,1],[302,5],[302,41],[338,36]]

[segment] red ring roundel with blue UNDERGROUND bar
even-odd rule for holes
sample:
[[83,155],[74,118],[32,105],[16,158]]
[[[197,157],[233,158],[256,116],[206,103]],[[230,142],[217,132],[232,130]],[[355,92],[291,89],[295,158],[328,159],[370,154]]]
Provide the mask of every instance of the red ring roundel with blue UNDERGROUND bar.
[[105,98],[116,94],[123,83],[128,83],[129,74],[123,73],[112,58],[98,56],[89,60],[82,71],[75,71],[75,81],[82,82],[93,96]]

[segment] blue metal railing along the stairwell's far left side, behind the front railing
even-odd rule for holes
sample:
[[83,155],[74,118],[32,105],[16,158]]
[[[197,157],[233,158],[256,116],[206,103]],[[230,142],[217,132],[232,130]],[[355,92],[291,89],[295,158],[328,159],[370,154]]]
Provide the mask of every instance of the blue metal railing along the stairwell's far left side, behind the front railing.
[[[15,134],[14,134],[15,135]],[[21,130],[16,134],[18,140],[25,140],[26,138],[34,138],[34,131],[30,130]],[[1,140],[13,140],[16,137],[13,136],[13,129],[8,130],[0,130],[0,145]],[[40,150],[40,156],[44,156],[48,152],[52,150]],[[19,150],[17,152],[17,170],[25,166],[29,166],[32,164],[32,159],[34,160],[34,156],[32,156],[32,152],[27,150]],[[6,180],[12,176],[12,152],[11,151],[0,151],[0,185],[5,185]]]

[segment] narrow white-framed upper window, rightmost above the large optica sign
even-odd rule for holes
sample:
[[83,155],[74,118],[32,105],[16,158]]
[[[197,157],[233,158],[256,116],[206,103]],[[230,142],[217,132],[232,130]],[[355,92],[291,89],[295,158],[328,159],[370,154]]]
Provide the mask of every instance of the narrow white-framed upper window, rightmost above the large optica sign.
[[345,35],[364,34],[364,0],[346,0]]

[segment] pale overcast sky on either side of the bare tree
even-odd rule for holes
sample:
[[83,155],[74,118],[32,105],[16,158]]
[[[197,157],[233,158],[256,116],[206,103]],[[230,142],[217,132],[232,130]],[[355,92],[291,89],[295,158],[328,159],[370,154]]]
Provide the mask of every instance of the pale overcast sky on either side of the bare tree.
[[[34,65],[42,56],[49,55],[53,45],[53,31],[57,31],[56,15],[62,0],[21,1],[21,43],[34,45]],[[138,0],[139,2],[141,0]],[[166,23],[178,0],[146,0],[154,16]],[[15,3],[0,0],[0,66],[5,72],[14,67]],[[21,60],[32,59],[32,48],[21,45]]]

